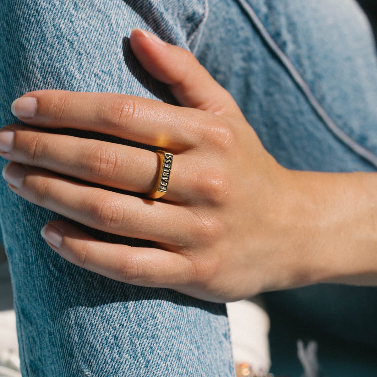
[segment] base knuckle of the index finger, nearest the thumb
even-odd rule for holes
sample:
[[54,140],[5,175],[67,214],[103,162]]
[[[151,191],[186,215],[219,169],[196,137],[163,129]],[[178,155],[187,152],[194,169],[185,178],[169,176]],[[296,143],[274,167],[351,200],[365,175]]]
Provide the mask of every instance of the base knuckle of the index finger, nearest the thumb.
[[232,127],[226,120],[219,120],[219,118],[216,124],[211,122],[205,127],[203,138],[210,146],[215,147],[217,153],[228,153],[234,146]]

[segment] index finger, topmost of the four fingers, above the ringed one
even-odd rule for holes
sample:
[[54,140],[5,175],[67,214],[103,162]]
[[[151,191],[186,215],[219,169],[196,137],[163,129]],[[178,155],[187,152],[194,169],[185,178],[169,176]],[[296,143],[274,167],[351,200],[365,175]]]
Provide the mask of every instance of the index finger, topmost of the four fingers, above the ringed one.
[[26,93],[12,113],[35,126],[106,133],[176,153],[198,145],[202,124],[214,116],[143,97],[67,90]]

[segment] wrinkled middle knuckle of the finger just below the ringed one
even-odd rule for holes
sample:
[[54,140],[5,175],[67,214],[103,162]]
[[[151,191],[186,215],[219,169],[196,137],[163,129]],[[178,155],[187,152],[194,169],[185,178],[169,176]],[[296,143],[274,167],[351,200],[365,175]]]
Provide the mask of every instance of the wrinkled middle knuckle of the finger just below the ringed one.
[[126,207],[123,202],[120,202],[111,194],[98,195],[91,201],[88,208],[89,221],[101,228],[118,229],[121,225],[124,225]]

